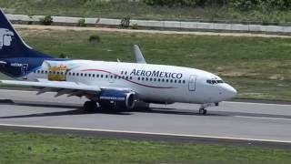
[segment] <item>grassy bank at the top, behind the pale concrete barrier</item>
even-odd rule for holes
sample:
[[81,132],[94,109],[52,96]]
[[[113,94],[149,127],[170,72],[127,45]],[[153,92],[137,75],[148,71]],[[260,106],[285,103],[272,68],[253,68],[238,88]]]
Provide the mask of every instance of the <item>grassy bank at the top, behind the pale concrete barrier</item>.
[[[252,10],[239,11],[232,7],[166,7],[149,6],[144,3],[119,0],[0,0],[0,6],[10,14],[28,15],[73,15],[123,18],[127,15],[137,19],[185,20],[210,22],[266,22],[290,23],[291,11]],[[72,10],[74,8],[74,10]]]

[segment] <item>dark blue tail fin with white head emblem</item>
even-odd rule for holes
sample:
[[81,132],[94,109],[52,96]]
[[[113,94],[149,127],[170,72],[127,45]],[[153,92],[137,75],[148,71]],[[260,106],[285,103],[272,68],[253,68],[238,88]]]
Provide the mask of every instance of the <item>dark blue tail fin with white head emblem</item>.
[[0,9],[0,58],[12,57],[52,58],[26,45]]

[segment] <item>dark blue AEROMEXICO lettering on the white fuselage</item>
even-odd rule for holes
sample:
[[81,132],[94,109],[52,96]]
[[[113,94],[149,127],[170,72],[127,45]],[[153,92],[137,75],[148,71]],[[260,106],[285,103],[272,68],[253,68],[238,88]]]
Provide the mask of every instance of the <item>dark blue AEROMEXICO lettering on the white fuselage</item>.
[[173,72],[164,72],[164,71],[157,71],[157,70],[136,70],[134,69],[130,76],[144,76],[144,77],[160,77],[160,78],[176,78],[181,79],[183,74],[181,73],[173,73]]

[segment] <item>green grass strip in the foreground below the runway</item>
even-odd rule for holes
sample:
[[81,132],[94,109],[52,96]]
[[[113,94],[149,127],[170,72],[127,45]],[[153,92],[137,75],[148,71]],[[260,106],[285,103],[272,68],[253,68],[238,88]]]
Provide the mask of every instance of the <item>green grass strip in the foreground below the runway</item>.
[[291,151],[0,132],[0,163],[290,163]]

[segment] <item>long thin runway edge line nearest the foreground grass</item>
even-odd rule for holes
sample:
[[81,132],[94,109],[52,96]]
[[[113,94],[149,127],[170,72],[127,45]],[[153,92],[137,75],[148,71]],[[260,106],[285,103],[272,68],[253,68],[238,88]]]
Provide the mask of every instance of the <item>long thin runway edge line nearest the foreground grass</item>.
[[175,134],[175,133],[157,133],[157,132],[144,132],[144,131],[110,130],[110,129],[98,129],[98,128],[66,128],[66,127],[17,125],[17,124],[0,124],[0,126],[18,127],[18,128],[66,129],[66,130],[113,132],[113,133],[126,133],[126,134],[145,134],[145,135],[171,136],[171,137],[188,137],[188,138],[215,138],[215,139],[231,139],[231,140],[242,140],[242,141],[245,140],[245,141],[261,141],[261,142],[276,142],[276,143],[288,143],[288,144],[291,144],[291,140],[260,139],[260,138],[232,138],[232,137],[218,137],[218,136],[204,136],[204,135],[186,135],[186,134]]

